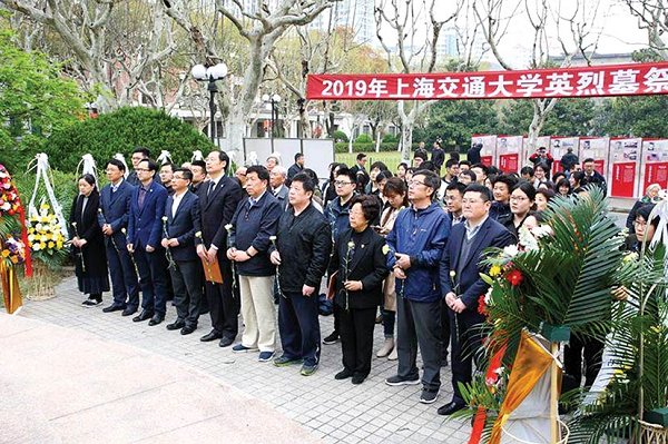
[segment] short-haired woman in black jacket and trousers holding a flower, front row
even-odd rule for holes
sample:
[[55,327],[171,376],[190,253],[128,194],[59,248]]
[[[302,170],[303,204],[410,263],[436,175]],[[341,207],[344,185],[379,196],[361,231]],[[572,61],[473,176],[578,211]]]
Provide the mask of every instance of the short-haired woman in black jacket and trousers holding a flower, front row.
[[343,371],[334,377],[364,382],[371,372],[373,329],[379,305],[383,300],[383,280],[387,276],[385,240],[371,227],[379,217],[373,196],[351,200],[351,229],[334,245],[330,272],[336,273],[334,309],[341,319]]

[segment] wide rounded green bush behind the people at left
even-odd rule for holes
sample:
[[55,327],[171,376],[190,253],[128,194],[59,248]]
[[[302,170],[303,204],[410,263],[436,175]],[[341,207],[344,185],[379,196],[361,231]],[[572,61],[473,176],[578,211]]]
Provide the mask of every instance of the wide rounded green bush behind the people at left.
[[45,152],[53,168],[75,171],[85,154],[91,154],[98,166],[116,152],[122,152],[129,162],[137,146],[150,149],[153,158],[166,149],[176,164],[190,160],[196,149],[206,152],[214,148],[193,126],[163,111],[137,107],[121,108],[55,132]]

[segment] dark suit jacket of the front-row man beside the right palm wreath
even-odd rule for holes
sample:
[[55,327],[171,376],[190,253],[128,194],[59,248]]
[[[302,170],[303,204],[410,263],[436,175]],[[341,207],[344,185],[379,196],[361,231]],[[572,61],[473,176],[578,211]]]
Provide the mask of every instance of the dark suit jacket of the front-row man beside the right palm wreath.
[[[480,231],[473,238],[473,244],[466,257],[460,257],[460,250],[466,236],[466,228],[464,224],[458,224],[452,227],[448,244],[443,249],[443,256],[441,257],[441,289],[443,296],[450,292],[456,293],[462,302],[466,305],[466,309],[460,316],[480,316],[478,314],[478,299],[481,295],[484,295],[489,288],[489,285],[480,277],[480,273],[484,269],[480,265],[482,258],[482,250],[488,247],[503,248],[508,245],[514,244],[514,237],[509,233],[501,224],[488,217]],[[464,265],[461,273],[455,275],[454,279],[450,277],[450,270],[458,270],[460,268],[460,262],[463,260]],[[459,285],[459,286],[458,286]],[[456,287],[456,289],[454,289]]]

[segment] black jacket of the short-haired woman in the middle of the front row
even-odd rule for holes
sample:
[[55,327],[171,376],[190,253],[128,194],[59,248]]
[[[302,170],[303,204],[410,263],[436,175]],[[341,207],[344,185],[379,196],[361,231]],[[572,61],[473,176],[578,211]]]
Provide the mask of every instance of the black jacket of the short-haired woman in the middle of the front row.
[[[347,244],[352,236],[352,229],[347,229],[341,234],[334,245],[334,254],[330,263],[331,273],[338,270],[334,303],[344,308],[373,308],[381,305],[383,300],[383,280],[387,276],[387,260],[383,254],[385,239],[371,227],[362,231],[360,246],[351,251],[346,276]],[[345,280],[362,282],[362,290],[347,292],[347,300],[343,287]]]

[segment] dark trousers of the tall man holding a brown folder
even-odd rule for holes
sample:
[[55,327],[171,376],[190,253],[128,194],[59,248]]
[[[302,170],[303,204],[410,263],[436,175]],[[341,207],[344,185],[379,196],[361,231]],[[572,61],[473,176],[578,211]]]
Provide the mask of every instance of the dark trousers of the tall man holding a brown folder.
[[[239,299],[232,292],[232,267],[220,260],[223,284],[206,283],[206,300],[212,317],[212,326],[225,337],[234,339],[239,332]],[[238,286],[237,286],[238,287]]]

